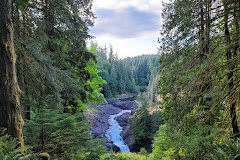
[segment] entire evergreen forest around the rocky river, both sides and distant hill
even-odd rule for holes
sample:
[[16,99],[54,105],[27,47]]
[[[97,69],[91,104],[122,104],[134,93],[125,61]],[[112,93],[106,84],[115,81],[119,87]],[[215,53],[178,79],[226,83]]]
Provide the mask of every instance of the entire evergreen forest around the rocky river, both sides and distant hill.
[[[164,0],[160,55],[128,58],[88,46],[92,3],[0,1],[0,160],[239,160],[240,1]],[[140,150],[108,151],[86,112],[127,93]]]

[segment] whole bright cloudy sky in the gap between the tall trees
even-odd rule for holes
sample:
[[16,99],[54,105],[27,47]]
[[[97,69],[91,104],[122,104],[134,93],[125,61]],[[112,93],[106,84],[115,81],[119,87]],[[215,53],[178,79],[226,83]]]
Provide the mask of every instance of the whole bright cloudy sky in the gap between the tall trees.
[[94,0],[90,35],[120,58],[157,54],[161,7],[161,0]]

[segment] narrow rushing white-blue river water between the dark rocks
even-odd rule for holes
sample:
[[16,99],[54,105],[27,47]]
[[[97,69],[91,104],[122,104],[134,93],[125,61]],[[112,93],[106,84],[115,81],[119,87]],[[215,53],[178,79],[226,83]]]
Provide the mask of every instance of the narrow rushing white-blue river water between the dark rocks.
[[108,139],[113,141],[113,144],[120,148],[122,152],[130,152],[130,149],[127,145],[124,144],[123,138],[120,136],[122,127],[114,119],[115,117],[121,116],[123,113],[131,112],[131,110],[122,110],[120,113],[111,115],[109,118],[110,128],[108,129],[106,136]]

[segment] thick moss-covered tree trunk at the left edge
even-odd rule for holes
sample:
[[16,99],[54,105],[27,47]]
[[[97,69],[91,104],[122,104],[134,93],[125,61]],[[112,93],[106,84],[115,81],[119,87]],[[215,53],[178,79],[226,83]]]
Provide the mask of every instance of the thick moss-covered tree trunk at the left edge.
[[23,147],[19,94],[20,89],[16,74],[16,54],[13,40],[12,0],[0,2],[0,126],[18,139],[18,146]]

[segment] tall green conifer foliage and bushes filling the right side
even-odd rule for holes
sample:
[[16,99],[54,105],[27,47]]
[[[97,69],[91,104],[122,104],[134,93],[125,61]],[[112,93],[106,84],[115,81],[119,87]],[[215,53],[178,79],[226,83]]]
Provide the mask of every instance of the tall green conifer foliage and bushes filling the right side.
[[158,90],[165,125],[154,140],[155,159],[206,159],[219,138],[239,135],[239,22],[232,7],[239,2],[229,2],[163,3]]

